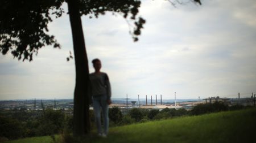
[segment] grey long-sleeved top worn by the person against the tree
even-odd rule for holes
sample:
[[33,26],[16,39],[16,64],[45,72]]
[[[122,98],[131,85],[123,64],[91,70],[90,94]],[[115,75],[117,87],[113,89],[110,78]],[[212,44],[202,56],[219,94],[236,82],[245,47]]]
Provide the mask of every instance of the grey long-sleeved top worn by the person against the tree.
[[92,96],[106,94],[108,99],[110,99],[111,88],[108,75],[104,72],[90,73],[89,77]]

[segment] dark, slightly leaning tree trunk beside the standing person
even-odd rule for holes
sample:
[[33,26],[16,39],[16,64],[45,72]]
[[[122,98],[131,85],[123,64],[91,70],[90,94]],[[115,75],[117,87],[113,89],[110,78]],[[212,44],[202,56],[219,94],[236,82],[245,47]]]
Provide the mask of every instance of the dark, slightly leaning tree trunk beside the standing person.
[[76,64],[76,86],[74,93],[73,134],[82,136],[90,131],[89,120],[89,67],[85,50],[82,22],[78,0],[67,0],[72,29],[73,49]]

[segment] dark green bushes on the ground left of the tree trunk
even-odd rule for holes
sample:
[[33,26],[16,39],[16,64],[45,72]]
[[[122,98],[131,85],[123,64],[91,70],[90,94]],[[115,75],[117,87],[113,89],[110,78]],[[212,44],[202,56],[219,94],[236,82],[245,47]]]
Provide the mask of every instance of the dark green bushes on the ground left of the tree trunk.
[[0,137],[9,140],[21,137],[46,136],[63,132],[68,128],[70,118],[61,110],[13,111],[7,116],[0,116]]

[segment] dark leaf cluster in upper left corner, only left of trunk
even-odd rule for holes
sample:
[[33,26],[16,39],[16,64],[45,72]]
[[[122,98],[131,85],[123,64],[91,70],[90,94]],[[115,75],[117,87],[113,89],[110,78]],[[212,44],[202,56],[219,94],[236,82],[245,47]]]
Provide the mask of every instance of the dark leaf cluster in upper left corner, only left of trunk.
[[0,1],[0,52],[15,58],[32,60],[33,54],[46,45],[60,47],[54,36],[47,34],[51,16],[60,17],[63,1]]

